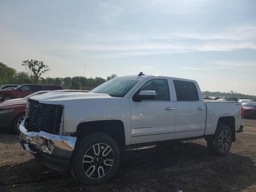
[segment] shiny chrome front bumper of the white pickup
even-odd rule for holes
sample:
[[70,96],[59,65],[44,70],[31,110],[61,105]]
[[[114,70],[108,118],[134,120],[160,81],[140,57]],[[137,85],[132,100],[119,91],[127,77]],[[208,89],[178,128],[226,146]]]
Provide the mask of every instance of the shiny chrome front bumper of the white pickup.
[[40,153],[51,158],[70,160],[76,144],[76,137],[54,135],[44,131],[28,132],[24,123],[25,120],[19,127],[20,144],[24,149],[34,156]]

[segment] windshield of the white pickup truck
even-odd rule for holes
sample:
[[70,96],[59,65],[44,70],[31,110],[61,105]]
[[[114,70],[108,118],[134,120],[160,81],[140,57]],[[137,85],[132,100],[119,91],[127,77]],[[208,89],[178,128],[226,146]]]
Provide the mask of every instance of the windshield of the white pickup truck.
[[136,85],[142,78],[139,77],[121,77],[114,78],[96,87],[91,93],[105,93],[112,97],[124,97],[130,89]]

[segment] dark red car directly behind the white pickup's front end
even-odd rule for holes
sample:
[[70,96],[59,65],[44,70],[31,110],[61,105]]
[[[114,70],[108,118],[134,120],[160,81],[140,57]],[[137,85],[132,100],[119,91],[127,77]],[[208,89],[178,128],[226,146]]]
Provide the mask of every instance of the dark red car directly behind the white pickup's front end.
[[[37,94],[43,94],[49,91],[38,91],[23,99],[8,100],[0,104],[0,130],[12,130],[18,134],[18,126],[25,118],[25,110],[27,100],[30,96]],[[86,90],[56,90],[52,92],[63,93],[63,92],[89,92]]]

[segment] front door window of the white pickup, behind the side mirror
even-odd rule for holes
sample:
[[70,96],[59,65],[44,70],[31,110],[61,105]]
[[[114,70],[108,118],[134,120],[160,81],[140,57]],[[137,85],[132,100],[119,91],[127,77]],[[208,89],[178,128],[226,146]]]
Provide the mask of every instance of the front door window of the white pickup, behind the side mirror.
[[155,91],[156,101],[170,101],[170,91],[167,79],[152,79],[146,82],[140,91]]

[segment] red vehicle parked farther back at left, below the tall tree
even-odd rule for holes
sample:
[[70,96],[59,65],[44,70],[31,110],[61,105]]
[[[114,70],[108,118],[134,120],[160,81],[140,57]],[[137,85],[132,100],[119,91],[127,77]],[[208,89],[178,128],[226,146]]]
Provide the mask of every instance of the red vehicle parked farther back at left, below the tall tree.
[[63,90],[63,88],[59,85],[23,84],[14,90],[0,90],[0,97],[2,98],[2,101],[6,101],[14,98],[24,98],[34,92],[43,90]]

